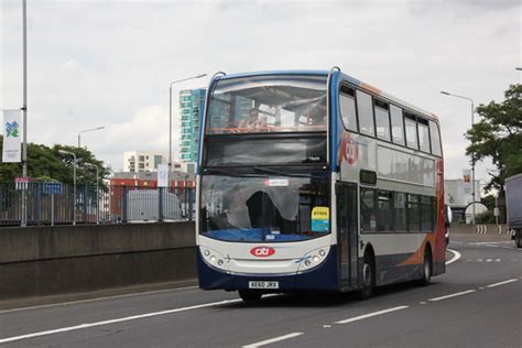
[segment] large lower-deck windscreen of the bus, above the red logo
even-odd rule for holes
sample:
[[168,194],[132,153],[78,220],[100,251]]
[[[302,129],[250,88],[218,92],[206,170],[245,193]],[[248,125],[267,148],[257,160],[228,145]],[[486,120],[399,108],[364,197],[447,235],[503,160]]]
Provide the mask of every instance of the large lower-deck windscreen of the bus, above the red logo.
[[330,232],[328,180],[204,175],[200,235],[226,241],[287,242]]

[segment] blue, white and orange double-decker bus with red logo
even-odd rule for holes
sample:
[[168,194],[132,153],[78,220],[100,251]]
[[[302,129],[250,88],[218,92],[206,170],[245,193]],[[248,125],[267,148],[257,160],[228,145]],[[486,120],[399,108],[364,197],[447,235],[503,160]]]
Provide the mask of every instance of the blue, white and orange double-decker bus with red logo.
[[216,74],[200,124],[200,289],[366,298],[445,272],[435,115],[335,67]]

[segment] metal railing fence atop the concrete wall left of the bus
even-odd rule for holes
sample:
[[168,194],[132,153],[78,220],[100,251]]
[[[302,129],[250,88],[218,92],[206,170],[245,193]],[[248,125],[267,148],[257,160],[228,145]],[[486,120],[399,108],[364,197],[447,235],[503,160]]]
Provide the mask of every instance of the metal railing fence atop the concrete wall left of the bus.
[[[45,183],[29,183],[28,226],[76,224],[122,224],[193,220],[195,191],[192,187],[63,185],[52,194]],[[20,187],[18,187],[20,188]],[[74,219],[76,205],[76,219]],[[0,184],[0,227],[20,226],[22,189]]]

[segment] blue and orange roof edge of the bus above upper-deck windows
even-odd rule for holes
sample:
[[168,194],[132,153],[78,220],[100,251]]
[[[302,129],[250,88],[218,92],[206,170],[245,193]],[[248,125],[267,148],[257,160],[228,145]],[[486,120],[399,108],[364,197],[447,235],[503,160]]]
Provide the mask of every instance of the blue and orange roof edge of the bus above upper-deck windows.
[[[238,78],[238,77],[249,77],[249,76],[263,76],[263,75],[315,75],[315,76],[328,76],[328,70],[264,70],[264,72],[251,72],[251,73],[240,73],[240,74],[231,74],[231,75],[225,75],[220,76],[220,79],[228,79],[228,78]],[[396,104],[398,106],[402,106],[405,109],[409,109],[412,112],[420,113],[422,116],[432,118],[434,120],[438,121],[438,116],[428,112],[426,110],[423,110],[418,107],[415,107],[402,99],[399,99],[392,95],[387,94],[385,91],[382,91],[381,89],[373,87],[367,83],[363,83],[355,77],[349,76],[348,74],[340,73],[340,76],[342,79],[346,81],[359,87],[360,89],[363,89],[372,95],[382,97],[383,99],[388,99],[388,101],[391,101],[393,104]]]

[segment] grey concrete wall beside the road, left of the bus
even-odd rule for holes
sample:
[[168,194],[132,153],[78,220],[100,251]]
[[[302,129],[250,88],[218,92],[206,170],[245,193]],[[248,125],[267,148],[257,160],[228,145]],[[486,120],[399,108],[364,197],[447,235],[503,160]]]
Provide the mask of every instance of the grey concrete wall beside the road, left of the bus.
[[0,229],[0,301],[196,276],[194,222]]

